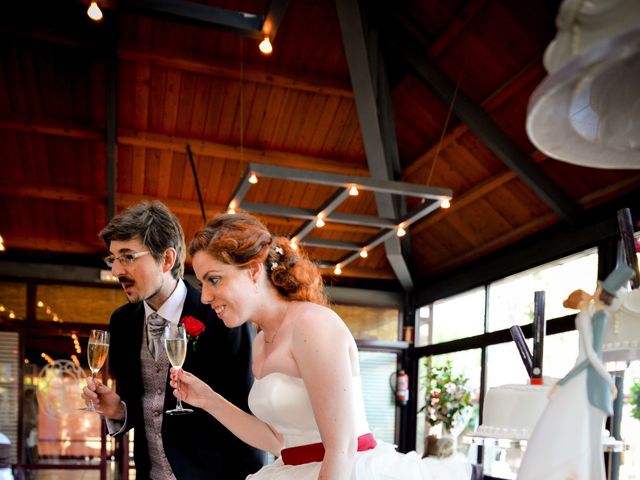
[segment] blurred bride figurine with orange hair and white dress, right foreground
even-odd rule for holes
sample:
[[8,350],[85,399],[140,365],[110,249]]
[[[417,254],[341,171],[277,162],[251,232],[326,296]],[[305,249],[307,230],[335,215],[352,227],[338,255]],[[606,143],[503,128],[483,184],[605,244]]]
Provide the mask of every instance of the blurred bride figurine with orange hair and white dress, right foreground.
[[552,388],[518,472],[518,480],[604,480],[602,433],[616,388],[602,362],[609,306],[634,272],[616,268],[594,295],[576,290],[563,305],[578,308],[580,335],[575,367]]

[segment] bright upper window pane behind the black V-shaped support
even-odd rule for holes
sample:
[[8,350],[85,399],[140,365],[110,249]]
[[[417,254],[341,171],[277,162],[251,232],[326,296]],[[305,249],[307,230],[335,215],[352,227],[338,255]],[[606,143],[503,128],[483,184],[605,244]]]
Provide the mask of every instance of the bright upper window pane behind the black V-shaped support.
[[507,277],[489,286],[489,331],[533,320],[534,292],[545,292],[545,318],[576,313],[562,306],[574,290],[593,292],[597,284],[598,254],[595,249],[556,260]]

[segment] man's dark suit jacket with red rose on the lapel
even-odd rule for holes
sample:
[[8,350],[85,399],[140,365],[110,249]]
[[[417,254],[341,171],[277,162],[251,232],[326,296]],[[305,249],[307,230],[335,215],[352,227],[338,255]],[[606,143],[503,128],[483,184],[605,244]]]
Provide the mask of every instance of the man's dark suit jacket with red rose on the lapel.
[[[200,292],[189,285],[182,317],[192,316],[206,325],[194,350],[189,342],[184,369],[207,382],[227,400],[248,411],[253,383],[251,373],[252,327],[228,329],[215,312],[200,303]],[[127,427],[135,428],[136,478],[149,478],[150,461],[142,413],[140,348],[144,328],[144,305],[130,303],[111,315],[109,367],[116,391],[127,404]],[[164,373],[163,373],[164,375]],[[174,408],[176,398],[167,387],[164,410]],[[244,480],[264,464],[264,453],[247,446],[205,411],[194,408],[190,415],[164,414],[162,441],[165,454],[178,480]]]

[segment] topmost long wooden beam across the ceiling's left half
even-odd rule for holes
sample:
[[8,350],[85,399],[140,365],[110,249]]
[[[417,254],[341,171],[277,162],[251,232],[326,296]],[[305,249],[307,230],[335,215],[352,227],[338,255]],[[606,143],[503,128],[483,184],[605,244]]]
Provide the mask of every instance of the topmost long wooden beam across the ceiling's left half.
[[318,75],[299,75],[280,69],[251,64],[244,64],[241,72],[240,62],[230,62],[203,55],[190,55],[176,50],[155,49],[153,51],[144,51],[130,44],[121,44],[118,48],[118,57],[130,62],[175,68],[212,77],[238,81],[243,79],[244,81],[288,90],[353,98],[349,83],[342,79],[322,78]]

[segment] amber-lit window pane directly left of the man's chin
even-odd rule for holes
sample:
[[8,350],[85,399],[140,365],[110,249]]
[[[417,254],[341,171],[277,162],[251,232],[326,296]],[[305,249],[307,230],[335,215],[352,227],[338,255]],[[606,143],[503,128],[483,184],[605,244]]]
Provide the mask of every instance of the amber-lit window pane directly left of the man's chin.
[[113,312],[127,302],[121,289],[38,285],[36,318],[44,321],[108,324]]

